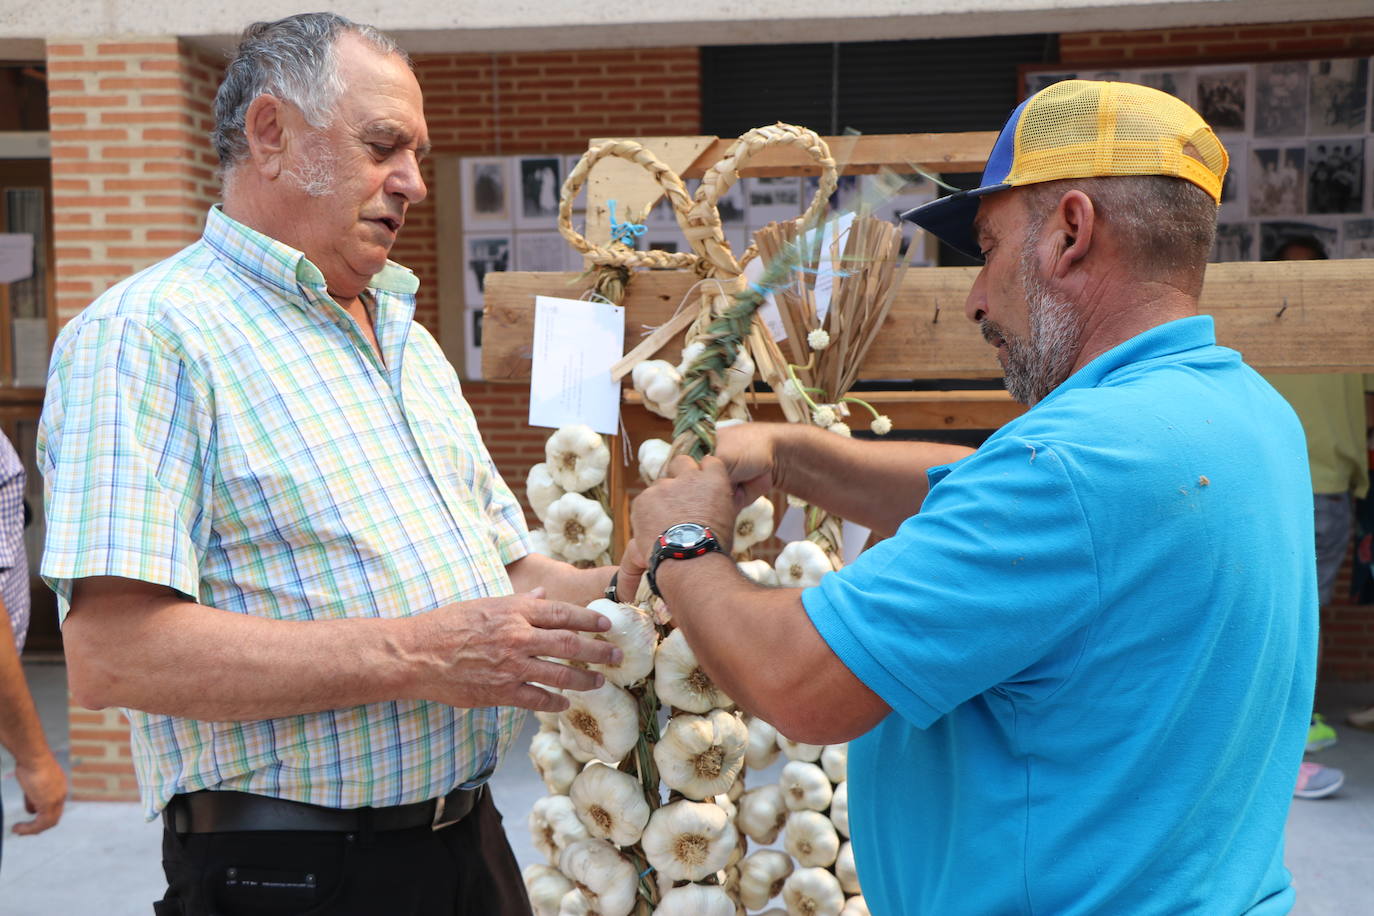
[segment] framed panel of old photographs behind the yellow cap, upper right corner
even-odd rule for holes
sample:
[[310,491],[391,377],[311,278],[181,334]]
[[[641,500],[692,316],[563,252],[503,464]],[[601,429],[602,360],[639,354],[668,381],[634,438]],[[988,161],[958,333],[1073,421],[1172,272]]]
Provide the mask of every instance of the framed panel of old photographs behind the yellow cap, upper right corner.
[[1374,66],[1370,58],[1156,70],[1028,71],[1150,85],[1193,104],[1230,155],[1213,261],[1274,257],[1304,238],[1329,257],[1374,257]]

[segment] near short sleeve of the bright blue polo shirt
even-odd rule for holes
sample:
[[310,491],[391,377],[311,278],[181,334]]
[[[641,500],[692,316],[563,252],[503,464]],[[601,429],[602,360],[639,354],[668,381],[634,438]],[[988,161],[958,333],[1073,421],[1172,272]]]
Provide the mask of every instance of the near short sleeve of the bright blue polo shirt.
[[937,477],[893,537],[802,592],[830,648],[918,728],[1015,681],[1099,606],[1055,448],[1006,437]]

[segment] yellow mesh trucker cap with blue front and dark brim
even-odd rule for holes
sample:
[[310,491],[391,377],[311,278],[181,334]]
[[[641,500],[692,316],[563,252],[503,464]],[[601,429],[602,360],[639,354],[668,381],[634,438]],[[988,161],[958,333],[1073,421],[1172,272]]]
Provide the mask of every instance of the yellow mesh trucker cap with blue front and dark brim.
[[1221,141],[1186,102],[1134,82],[1065,80],[1017,106],[977,188],[901,218],[982,260],[973,217],[987,194],[1059,179],[1165,174],[1191,181],[1220,203],[1226,166]]

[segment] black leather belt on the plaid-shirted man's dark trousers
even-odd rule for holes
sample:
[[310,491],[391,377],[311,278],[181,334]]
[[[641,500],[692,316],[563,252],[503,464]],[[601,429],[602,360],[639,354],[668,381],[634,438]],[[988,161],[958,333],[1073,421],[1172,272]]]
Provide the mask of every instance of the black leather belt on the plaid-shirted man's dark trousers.
[[162,809],[162,823],[177,834],[441,829],[467,817],[481,791],[481,786],[455,788],[442,798],[392,808],[322,808],[250,792],[201,791],[173,795]]

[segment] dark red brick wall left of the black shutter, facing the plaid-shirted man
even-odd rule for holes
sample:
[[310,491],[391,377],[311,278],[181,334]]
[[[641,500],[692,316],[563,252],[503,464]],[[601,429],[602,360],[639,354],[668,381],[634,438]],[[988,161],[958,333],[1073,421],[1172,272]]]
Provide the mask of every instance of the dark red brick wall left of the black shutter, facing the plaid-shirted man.
[[[697,48],[420,55],[415,71],[436,152],[581,152],[602,136],[701,130]],[[431,174],[426,174],[431,184]],[[550,228],[554,228],[550,225]],[[434,198],[414,207],[393,257],[420,276],[418,317],[438,335]],[[502,475],[523,499],[547,430],[526,426],[528,385],[463,386]]]

